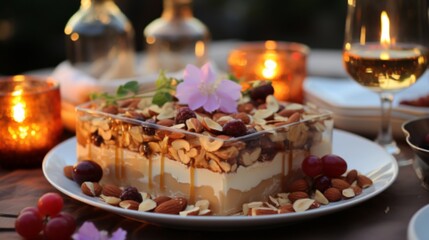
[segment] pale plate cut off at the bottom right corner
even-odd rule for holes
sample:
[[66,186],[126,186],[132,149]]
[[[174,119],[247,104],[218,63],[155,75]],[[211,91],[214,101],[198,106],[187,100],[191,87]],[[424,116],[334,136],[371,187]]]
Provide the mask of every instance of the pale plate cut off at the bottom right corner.
[[429,236],[429,204],[420,208],[408,224],[408,240],[423,240]]

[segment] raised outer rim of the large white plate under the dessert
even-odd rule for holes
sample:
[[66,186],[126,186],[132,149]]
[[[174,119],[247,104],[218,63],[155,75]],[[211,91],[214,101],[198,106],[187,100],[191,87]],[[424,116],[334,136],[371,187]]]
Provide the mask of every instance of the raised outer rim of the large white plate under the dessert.
[[[367,144],[374,144],[374,142],[363,138],[359,135],[346,132],[339,129],[334,129],[333,135],[343,135],[343,137],[346,138],[355,138],[359,139],[359,141],[365,141]],[[337,137],[338,138],[338,137]],[[333,145],[335,145],[335,138]],[[135,210],[128,210],[128,209],[122,209],[115,206],[110,206],[101,200],[89,197],[84,195],[79,190],[79,195],[74,194],[69,189],[70,187],[67,187],[67,183],[72,183],[70,179],[67,179],[63,174],[61,174],[61,178],[63,178],[65,181],[69,182],[61,182],[57,183],[52,179],[53,176],[47,171],[48,164],[50,161],[52,161],[53,158],[57,157],[59,149],[62,147],[67,147],[70,145],[70,147],[73,147],[72,145],[76,144],[76,137],[72,137],[70,139],[67,139],[54,147],[51,151],[48,152],[48,154],[45,156],[42,164],[42,170],[45,178],[48,180],[48,182],[54,186],[57,190],[62,192],[63,194],[76,199],[80,202],[83,202],[85,204],[91,205],[93,207],[98,207],[100,209],[106,210],[111,213],[115,213],[127,218],[134,219],[136,221],[141,222],[150,222],[152,224],[162,225],[165,227],[170,228],[180,228],[180,229],[189,229],[192,227],[195,229],[196,226],[204,227],[206,230],[213,230],[216,231],[219,230],[230,230],[230,229],[237,229],[239,226],[245,226],[245,227],[273,227],[273,224],[285,224],[290,221],[298,221],[298,220],[305,220],[308,218],[314,218],[319,217],[322,215],[327,215],[333,212],[338,212],[340,210],[355,206],[357,204],[360,204],[364,201],[367,201],[376,195],[380,194],[384,190],[386,190],[397,178],[399,167],[397,165],[396,160],[390,156],[387,155],[386,157],[389,158],[389,161],[384,166],[389,166],[389,170],[391,171],[391,175],[389,177],[389,181],[387,181],[384,185],[380,186],[378,189],[374,189],[374,191],[371,191],[365,195],[360,195],[358,198],[349,199],[347,201],[341,201],[337,203],[330,203],[330,206],[324,206],[317,209],[312,209],[311,211],[305,211],[300,213],[293,213],[293,214],[275,214],[275,215],[265,215],[265,216],[257,216],[257,217],[248,217],[248,216],[179,216],[179,215],[169,215],[169,214],[158,214],[158,213],[150,213],[150,212],[137,212]],[[377,145],[378,146],[378,145]],[[381,147],[380,147],[381,149]],[[75,156],[68,156],[64,157],[65,159],[71,158]],[[384,167],[381,166],[381,167]],[[61,167],[64,167],[63,165]],[[61,170],[62,173],[62,169]],[[74,185],[75,188],[80,187],[78,185]],[[374,187],[374,186],[372,186]],[[180,221],[177,221],[180,220]],[[172,223],[174,222],[174,225]],[[235,225],[231,225],[231,223],[235,223]],[[238,225],[238,226],[237,226]],[[219,226],[222,227],[222,229],[219,229]]]

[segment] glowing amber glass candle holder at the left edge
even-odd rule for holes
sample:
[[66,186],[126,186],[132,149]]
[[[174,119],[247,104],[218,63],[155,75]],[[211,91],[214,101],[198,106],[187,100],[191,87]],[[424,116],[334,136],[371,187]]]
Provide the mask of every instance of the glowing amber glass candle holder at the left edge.
[[41,166],[45,154],[61,139],[59,85],[50,78],[0,78],[0,106],[0,165]]

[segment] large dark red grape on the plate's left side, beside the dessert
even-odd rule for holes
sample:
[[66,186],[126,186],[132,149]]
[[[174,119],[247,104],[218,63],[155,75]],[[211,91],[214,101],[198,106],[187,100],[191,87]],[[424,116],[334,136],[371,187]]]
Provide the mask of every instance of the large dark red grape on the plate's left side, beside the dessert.
[[98,182],[103,176],[103,169],[98,163],[91,160],[83,160],[73,167],[73,179],[77,184],[83,182]]

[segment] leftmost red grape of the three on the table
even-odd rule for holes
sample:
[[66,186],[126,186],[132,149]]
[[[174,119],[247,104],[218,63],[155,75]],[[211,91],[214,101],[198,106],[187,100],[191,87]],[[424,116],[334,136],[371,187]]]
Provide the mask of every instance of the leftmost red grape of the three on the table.
[[24,238],[35,239],[43,229],[43,219],[33,211],[23,212],[15,220],[15,231]]

